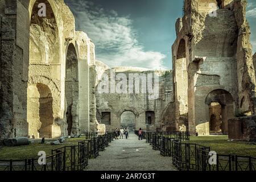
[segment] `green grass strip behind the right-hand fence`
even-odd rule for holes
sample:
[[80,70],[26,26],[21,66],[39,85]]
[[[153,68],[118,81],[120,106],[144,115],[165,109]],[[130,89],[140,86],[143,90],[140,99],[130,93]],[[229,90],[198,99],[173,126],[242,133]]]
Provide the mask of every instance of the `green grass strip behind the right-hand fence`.
[[256,157],[256,143],[229,141],[228,136],[190,137],[189,142],[210,147],[210,150],[216,151],[217,154]]

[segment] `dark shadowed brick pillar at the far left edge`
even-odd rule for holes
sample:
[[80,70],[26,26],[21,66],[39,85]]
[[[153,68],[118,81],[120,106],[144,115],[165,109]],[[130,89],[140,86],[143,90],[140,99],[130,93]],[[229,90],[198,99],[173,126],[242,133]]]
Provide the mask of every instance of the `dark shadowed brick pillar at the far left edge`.
[[0,141],[28,135],[27,80],[28,10],[20,1],[6,0],[1,13]]

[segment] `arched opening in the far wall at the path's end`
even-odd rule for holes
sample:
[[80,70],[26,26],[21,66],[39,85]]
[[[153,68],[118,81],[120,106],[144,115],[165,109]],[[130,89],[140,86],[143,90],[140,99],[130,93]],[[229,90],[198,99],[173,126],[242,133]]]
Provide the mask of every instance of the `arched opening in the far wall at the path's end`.
[[121,127],[135,130],[135,114],[132,111],[124,111],[121,114]]

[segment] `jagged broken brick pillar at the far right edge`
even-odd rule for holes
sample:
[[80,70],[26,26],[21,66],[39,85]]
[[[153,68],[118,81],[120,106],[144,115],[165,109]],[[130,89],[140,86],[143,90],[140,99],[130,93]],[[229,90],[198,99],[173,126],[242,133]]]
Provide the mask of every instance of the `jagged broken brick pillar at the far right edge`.
[[250,44],[250,27],[246,20],[246,0],[234,1],[234,16],[238,26],[237,78],[240,113],[254,115],[256,109],[255,70]]

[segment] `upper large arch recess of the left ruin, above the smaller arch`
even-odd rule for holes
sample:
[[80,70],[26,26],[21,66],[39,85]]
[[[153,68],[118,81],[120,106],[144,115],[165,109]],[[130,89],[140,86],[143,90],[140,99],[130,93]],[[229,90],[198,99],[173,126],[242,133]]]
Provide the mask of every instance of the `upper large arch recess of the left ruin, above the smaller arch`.
[[[46,17],[38,15],[40,3],[46,5]],[[54,5],[48,0],[36,0],[30,7],[30,64],[60,63],[60,27]]]

